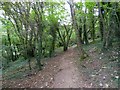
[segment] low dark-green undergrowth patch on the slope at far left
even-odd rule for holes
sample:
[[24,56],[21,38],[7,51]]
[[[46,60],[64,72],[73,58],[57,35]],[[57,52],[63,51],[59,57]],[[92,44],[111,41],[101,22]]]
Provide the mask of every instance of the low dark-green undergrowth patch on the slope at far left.
[[[35,71],[35,60],[31,60],[31,66],[33,71]],[[10,79],[20,79],[25,78],[27,75],[32,74],[29,70],[28,61],[26,60],[18,60],[10,64],[10,67],[3,70],[2,76],[3,80]]]

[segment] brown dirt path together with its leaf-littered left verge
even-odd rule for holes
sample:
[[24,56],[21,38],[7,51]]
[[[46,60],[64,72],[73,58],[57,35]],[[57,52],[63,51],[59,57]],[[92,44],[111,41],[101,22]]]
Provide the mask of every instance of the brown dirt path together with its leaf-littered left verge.
[[72,47],[55,57],[38,73],[23,79],[4,81],[4,87],[11,88],[78,88],[86,87],[76,65],[77,50]]

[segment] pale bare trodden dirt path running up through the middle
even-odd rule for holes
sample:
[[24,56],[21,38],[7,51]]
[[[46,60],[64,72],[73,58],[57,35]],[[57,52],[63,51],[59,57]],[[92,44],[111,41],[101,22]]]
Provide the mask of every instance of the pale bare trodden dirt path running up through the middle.
[[73,48],[65,52],[60,58],[59,72],[54,77],[53,88],[83,87],[82,79],[74,60]]

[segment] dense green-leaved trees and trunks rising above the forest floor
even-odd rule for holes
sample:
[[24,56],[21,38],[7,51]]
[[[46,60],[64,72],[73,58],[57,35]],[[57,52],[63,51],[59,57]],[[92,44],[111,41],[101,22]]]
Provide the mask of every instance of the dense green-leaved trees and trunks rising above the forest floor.
[[45,58],[76,44],[80,61],[98,41],[100,52],[120,48],[119,2],[0,2],[0,10],[3,71],[18,61],[41,71]]

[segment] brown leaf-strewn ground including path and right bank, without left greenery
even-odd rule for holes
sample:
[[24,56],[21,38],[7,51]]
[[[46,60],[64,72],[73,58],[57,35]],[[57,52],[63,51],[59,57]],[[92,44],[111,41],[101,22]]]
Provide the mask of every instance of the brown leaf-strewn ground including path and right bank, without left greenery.
[[[99,45],[97,45],[99,46]],[[49,58],[43,70],[31,71],[24,78],[3,80],[3,87],[11,88],[117,88],[118,52],[113,49],[100,53],[96,45],[85,46],[89,54],[80,61],[77,48]]]

